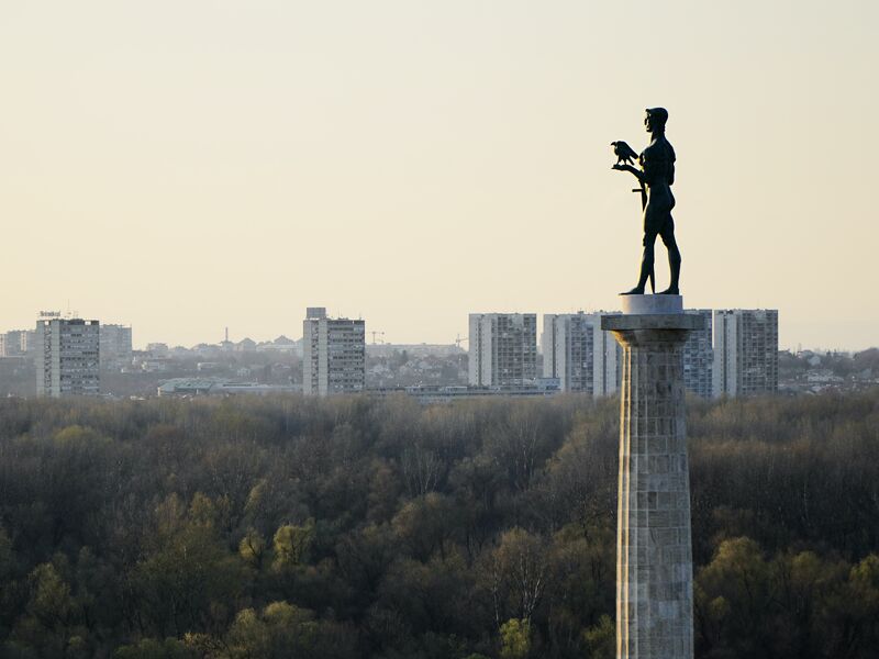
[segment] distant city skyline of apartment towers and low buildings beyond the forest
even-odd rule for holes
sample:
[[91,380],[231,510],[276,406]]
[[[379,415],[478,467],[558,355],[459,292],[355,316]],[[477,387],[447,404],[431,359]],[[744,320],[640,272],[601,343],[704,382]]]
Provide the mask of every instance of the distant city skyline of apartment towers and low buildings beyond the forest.
[[[680,308],[679,297],[637,298],[653,303],[674,298],[675,304]],[[624,302],[632,299],[624,298]],[[624,304],[623,309],[627,306]],[[700,309],[683,310],[683,313],[700,316],[702,321],[701,330],[693,332],[683,346],[683,384],[689,393],[708,399],[779,390],[781,353],[778,346],[778,310]],[[153,343],[146,346],[146,350],[133,350],[130,325],[101,324],[98,320],[63,317],[60,312],[43,311],[36,331],[0,332],[0,358],[9,360],[4,362],[4,368],[5,376],[11,379],[5,386],[15,395],[29,394],[27,387],[22,389],[21,382],[22,368],[27,370],[27,361],[36,367],[36,392],[40,395],[48,390],[45,382],[49,373],[53,382],[63,383],[65,378],[79,378],[85,372],[82,356],[91,355],[94,358],[89,366],[91,370],[86,370],[93,371],[96,383],[99,382],[99,371],[123,373],[123,379],[129,376],[127,382],[115,379],[109,390],[102,391],[108,394],[118,394],[120,387],[143,393],[145,384],[148,389],[148,382],[130,378],[132,373],[142,372],[168,373],[165,379],[167,387],[162,383],[162,377],[158,378],[160,395],[189,394],[204,389],[205,382],[216,383],[232,375],[238,379],[226,381],[223,387],[211,389],[210,392],[229,394],[301,390],[305,394],[321,395],[359,391],[387,393],[405,381],[407,387],[427,386],[426,398],[421,399],[427,402],[436,400],[437,395],[450,400],[444,394],[430,393],[430,387],[447,386],[455,390],[455,395],[465,395],[463,389],[468,388],[460,386],[466,380],[469,388],[516,389],[523,395],[549,395],[561,391],[603,396],[619,389],[621,361],[620,347],[611,333],[601,330],[600,325],[604,319],[617,316],[619,312],[608,311],[544,314],[543,332],[538,333],[537,315],[534,313],[471,313],[470,335],[475,339],[468,342],[466,353],[461,349],[461,340],[450,345],[388,344],[380,340],[371,346],[374,350],[370,356],[366,349],[365,321],[329,317],[323,306],[305,310],[303,338],[298,342],[286,336],[259,343],[249,338],[235,342],[224,333],[225,338],[219,344],[201,343],[182,347]],[[60,337],[57,346],[41,339],[49,323],[52,327],[56,324],[59,328],[71,327],[74,343],[65,344],[64,333],[54,330],[49,335]],[[89,325],[93,330],[93,347],[84,347],[80,344],[85,339],[78,328]],[[374,340],[378,338],[377,334],[380,333],[374,333]],[[36,349],[32,344],[36,344]],[[44,347],[40,347],[41,344]],[[49,345],[55,346],[52,359],[48,357]],[[450,355],[448,349],[453,345],[457,346],[459,354],[468,356],[463,379],[460,361],[439,364],[443,361],[439,356]],[[389,349],[393,350],[392,366],[379,357],[379,354],[383,354],[387,360],[391,355]],[[820,391],[824,386],[841,383],[857,388],[871,381],[871,368],[867,365],[870,355],[876,351],[877,348],[859,355],[828,354],[827,364],[814,371],[812,369],[822,364],[821,356],[809,350],[795,355],[789,353],[785,357],[788,369],[785,387],[793,391],[804,384],[812,392]],[[269,353],[272,356],[266,361]],[[538,359],[541,353],[543,356]],[[240,357],[248,354],[262,355],[263,359],[253,361],[244,358],[242,362]],[[229,357],[233,355],[238,357],[230,361]],[[282,355],[286,357],[281,358]],[[299,384],[289,375],[292,364],[289,357],[292,355],[299,356]],[[46,359],[43,369],[40,368],[41,356]],[[199,359],[192,360],[196,356]],[[423,360],[425,356],[430,358]],[[368,357],[374,359],[369,368]],[[409,372],[402,375],[411,357],[416,358],[413,361],[414,369],[409,368]],[[852,360],[852,365],[861,361],[857,377],[848,378],[852,371],[841,371],[844,367],[834,365],[833,360],[841,357]],[[791,360],[805,361],[794,367],[797,361]],[[254,365],[257,365],[256,370]],[[280,370],[276,371],[276,367]],[[394,370],[400,373],[394,376]],[[288,375],[285,376],[283,371]],[[846,377],[841,377],[839,372]],[[402,379],[397,380],[400,375]],[[220,380],[212,379],[214,376],[220,376]],[[251,380],[244,382],[242,378]],[[390,389],[389,382],[392,383]],[[230,389],[233,384],[234,391]],[[92,393],[97,393],[97,390]],[[63,392],[53,393],[58,394]]]

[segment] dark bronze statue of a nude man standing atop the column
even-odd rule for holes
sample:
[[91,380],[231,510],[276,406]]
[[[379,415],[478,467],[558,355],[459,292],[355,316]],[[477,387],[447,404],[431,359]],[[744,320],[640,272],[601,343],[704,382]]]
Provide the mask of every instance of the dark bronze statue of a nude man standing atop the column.
[[671,209],[675,208],[675,196],[671,186],[675,182],[675,149],[666,139],[666,121],[668,111],[665,108],[650,108],[644,116],[644,125],[650,134],[650,144],[638,157],[641,169],[632,165],[616,164],[613,169],[631,171],[646,192],[644,203],[644,257],[641,260],[638,283],[624,295],[643,295],[647,278],[653,273],[654,243],[656,236],[663,238],[668,249],[668,267],[671,270],[671,283],[660,294],[677,295],[680,293],[680,252],[675,242],[675,221]]

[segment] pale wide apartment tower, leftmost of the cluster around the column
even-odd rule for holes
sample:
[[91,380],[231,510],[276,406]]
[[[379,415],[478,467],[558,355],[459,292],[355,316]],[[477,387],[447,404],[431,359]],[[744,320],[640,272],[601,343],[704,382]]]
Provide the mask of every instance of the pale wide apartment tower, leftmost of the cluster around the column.
[[537,314],[471,313],[469,383],[523,387],[537,377]]

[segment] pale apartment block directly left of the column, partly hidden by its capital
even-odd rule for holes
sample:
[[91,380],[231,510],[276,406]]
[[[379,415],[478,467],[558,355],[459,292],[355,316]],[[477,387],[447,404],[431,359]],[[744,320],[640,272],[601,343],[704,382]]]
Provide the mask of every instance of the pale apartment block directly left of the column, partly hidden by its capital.
[[543,375],[561,391],[610,395],[620,388],[621,348],[601,328],[601,313],[543,316]]

